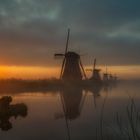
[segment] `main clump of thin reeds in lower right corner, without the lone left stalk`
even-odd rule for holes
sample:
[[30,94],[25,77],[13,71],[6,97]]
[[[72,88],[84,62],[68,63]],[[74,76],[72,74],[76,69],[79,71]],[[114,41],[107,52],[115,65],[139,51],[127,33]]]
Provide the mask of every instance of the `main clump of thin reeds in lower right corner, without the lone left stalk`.
[[112,135],[116,135],[118,139],[140,140],[140,113],[134,99],[131,98],[125,108],[125,118],[116,112],[113,125],[116,129],[111,128]]

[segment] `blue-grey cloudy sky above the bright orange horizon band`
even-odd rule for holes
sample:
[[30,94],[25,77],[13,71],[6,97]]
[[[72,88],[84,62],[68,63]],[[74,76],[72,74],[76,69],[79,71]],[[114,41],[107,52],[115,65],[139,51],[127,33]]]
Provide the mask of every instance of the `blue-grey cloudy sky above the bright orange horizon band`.
[[1,0],[0,64],[55,65],[70,50],[100,64],[140,64],[139,0]]

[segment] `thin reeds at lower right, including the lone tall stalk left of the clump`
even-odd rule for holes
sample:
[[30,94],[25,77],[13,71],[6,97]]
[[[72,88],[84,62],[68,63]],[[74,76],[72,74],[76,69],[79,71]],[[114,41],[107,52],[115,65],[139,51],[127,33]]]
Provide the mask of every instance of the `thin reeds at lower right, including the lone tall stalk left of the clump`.
[[[96,140],[140,140],[140,112],[136,107],[134,99],[130,99],[125,108],[125,117],[121,113],[116,112],[115,118],[112,120],[112,125],[109,126],[109,135],[107,135],[107,124],[104,122],[105,103],[104,99],[98,130],[96,128]],[[99,135],[98,135],[98,134]],[[97,137],[99,136],[99,137]]]

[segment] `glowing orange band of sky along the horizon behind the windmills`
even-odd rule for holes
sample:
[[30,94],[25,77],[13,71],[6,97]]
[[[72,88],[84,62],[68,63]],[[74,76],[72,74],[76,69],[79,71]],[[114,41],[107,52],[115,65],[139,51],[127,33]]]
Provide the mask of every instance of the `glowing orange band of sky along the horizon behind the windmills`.
[[[91,66],[88,66],[90,68]],[[87,67],[85,67],[86,69]],[[105,72],[104,66],[101,74]],[[140,66],[109,66],[108,72],[117,74],[120,79],[140,79]],[[29,67],[29,66],[0,66],[0,79],[22,78],[22,79],[43,79],[59,77],[60,67]],[[90,76],[91,73],[87,72]]]

